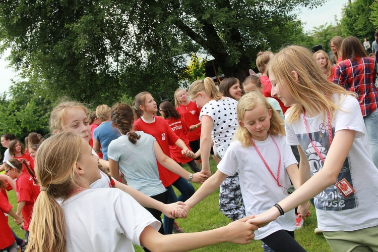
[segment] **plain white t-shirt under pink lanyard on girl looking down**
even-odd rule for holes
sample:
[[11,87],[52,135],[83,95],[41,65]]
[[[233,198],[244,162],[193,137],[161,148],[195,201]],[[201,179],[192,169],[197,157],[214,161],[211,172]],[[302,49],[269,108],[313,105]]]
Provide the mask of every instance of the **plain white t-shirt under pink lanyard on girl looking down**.
[[[297,164],[297,161],[284,136],[278,135],[273,136],[273,138],[281,153],[279,183],[288,188],[291,183],[286,168],[292,164]],[[279,152],[276,144],[270,136],[264,141],[255,140],[255,144],[277,178]],[[218,165],[218,170],[229,176],[239,172],[240,189],[247,216],[257,215],[269,210],[288,195],[287,189],[277,185],[277,181],[264,165],[254,146],[244,147],[236,140],[231,142]],[[256,230],[255,239],[263,239],[278,230],[293,231],[294,229],[294,210],[291,210]]]

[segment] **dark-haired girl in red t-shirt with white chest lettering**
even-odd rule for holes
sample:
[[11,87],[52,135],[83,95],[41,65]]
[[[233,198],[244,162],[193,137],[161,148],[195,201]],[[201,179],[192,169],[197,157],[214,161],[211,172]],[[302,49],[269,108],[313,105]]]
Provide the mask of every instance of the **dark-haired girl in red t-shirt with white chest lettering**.
[[[165,121],[168,122],[169,127],[173,130],[174,133],[184,141],[185,145],[189,145],[189,139],[187,138],[187,132],[189,129],[185,121],[181,118],[180,114],[176,111],[173,104],[170,102],[162,102],[159,106],[160,114],[164,117]],[[171,159],[181,164],[188,164],[188,166],[194,172],[200,172],[201,169],[197,166],[196,162],[185,156],[182,156],[181,149],[176,145],[169,145],[169,150],[171,152]]]

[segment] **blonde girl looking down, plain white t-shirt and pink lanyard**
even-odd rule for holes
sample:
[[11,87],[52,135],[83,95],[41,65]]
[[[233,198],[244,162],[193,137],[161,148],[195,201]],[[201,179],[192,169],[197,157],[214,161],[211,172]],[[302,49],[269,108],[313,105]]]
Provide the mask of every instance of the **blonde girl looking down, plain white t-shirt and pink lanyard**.
[[[242,96],[237,105],[239,126],[217,172],[185,204],[194,207],[227,176],[239,172],[246,215],[268,210],[288,195],[290,179],[299,187],[297,161],[286,144],[282,119],[258,92]],[[251,219],[253,220],[253,219]],[[274,251],[305,251],[294,239],[294,211],[259,228],[261,239]]]

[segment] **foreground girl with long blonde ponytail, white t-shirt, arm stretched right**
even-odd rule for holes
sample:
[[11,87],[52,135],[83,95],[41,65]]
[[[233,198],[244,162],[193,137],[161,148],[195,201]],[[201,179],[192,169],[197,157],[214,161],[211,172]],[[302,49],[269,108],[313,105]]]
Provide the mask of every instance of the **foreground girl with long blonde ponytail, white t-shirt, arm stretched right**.
[[101,177],[98,159],[88,142],[72,132],[57,133],[41,144],[35,168],[41,193],[27,251],[134,251],[132,243],[154,251],[187,251],[254,238],[257,227],[245,223],[250,218],[205,232],[160,234],[160,222],[129,194],[89,188]]

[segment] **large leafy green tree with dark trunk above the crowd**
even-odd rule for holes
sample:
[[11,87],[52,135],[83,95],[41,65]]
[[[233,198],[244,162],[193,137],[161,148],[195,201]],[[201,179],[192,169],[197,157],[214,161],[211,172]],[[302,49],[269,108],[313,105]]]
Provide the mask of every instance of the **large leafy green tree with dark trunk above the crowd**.
[[124,93],[174,89],[177,56],[199,50],[243,79],[259,51],[299,42],[295,8],[323,2],[4,0],[0,37],[11,64],[51,95],[111,103]]

